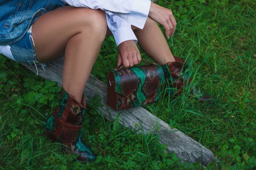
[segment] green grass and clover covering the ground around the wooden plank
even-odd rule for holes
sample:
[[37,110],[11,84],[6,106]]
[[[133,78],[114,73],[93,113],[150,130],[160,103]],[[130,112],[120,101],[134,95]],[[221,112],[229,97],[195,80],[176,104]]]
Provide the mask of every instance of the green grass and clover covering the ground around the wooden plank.
[[[212,150],[217,159],[206,169],[256,169],[256,1],[159,4],[172,9],[178,23],[168,40],[172,52],[186,59],[193,83],[218,100],[200,104],[188,90],[165,97],[163,87],[160,102],[145,108]],[[116,67],[116,51],[113,37],[107,38],[92,70],[103,82]],[[0,169],[203,169],[164,153],[166,146],[157,136],[137,135],[105,121],[93,107],[99,103],[96,98],[87,102],[83,136],[97,160],[73,161],[72,155],[62,153],[61,144],[43,133],[59,90],[55,82],[0,56]]]

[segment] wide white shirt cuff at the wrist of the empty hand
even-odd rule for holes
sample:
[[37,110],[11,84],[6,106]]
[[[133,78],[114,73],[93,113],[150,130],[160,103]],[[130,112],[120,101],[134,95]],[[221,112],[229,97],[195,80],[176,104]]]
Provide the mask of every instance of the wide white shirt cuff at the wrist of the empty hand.
[[148,18],[151,0],[134,0],[133,8],[127,22],[137,28],[143,29]]

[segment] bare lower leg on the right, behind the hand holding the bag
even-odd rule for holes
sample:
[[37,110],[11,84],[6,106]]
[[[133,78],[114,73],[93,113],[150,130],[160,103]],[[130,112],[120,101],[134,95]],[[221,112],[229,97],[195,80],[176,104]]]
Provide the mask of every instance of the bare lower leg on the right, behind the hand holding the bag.
[[166,39],[156,22],[147,19],[142,29],[132,27],[140,48],[155,62],[163,65],[175,61]]

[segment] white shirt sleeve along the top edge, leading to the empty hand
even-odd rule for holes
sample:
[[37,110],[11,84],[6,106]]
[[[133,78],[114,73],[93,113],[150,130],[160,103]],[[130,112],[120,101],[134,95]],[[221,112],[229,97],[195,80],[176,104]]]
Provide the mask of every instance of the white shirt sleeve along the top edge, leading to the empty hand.
[[143,29],[151,0],[62,0],[74,7],[111,11],[129,24]]

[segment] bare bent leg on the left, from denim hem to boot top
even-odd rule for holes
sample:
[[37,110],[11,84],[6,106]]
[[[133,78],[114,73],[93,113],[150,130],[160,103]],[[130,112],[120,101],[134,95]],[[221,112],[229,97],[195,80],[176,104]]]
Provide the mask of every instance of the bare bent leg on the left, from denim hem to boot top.
[[71,6],[49,11],[33,24],[38,61],[65,55],[62,85],[79,102],[106,31],[104,11]]

